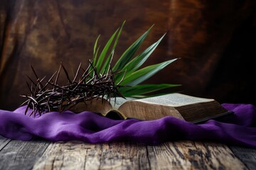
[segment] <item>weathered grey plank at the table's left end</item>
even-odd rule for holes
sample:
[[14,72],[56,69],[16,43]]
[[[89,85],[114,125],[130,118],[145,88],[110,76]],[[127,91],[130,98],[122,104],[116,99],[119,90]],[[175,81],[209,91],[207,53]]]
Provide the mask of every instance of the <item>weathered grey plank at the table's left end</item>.
[[9,141],[0,151],[0,169],[32,169],[49,144],[39,140]]

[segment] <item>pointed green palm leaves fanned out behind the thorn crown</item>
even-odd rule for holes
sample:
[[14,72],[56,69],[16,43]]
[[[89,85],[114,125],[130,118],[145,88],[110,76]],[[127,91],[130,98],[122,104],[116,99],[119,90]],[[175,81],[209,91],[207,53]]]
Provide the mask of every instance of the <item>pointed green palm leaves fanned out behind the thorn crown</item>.
[[[124,23],[112,34],[101,52],[100,45],[98,45],[100,35],[97,37],[93,48],[92,65],[95,67],[98,74],[108,72],[108,69],[110,69],[110,64],[112,62],[112,58],[114,57],[114,50],[117,47],[117,42],[122,33]],[[130,45],[127,50],[124,51],[121,57],[119,57],[119,60],[117,60],[116,64],[114,64],[114,66],[112,67],[112,71],[123,72],[123,74],[117,74],[114,77],[116,84],[122,86],[119,88],[119,91],[122,93],[123,96],[145,96],[146,94],[149,94],[151,92],[171,88],[174,86],[180,86],[179,84],[140,84],[146,79],[152,77],[161,69],[164,69],[164,67],[177,60],[176,58],[173,60],[168,60],[166,62],[161,62],[159,64],[153,64],[144,68],[140,68],[142,64],[146,62],[152,52],[154,52],[156,47],[165,36],[164,34],[161,38],[159,38],[159,40],[147,47],[146,50],[139,53],[139,55],[136,55],[139,47],[144,42],[146,36],[149,34],[153,26],[151,26],[148,30],[146,30],[143,35],[141,35],[136,41],[134,41],[134,43],[132,43],[132,45]]]

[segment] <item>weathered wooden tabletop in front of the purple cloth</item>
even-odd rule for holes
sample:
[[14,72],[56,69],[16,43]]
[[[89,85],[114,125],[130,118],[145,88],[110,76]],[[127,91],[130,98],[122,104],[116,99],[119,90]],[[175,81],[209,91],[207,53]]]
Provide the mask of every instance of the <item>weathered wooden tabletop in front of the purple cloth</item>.
[[92,145],[0,136],[0,169],[256,169],[256,149],[214,142]]

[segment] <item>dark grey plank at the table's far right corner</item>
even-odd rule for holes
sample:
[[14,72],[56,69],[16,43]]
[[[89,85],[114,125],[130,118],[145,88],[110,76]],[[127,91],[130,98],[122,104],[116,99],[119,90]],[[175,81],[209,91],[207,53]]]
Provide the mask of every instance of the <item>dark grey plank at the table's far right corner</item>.
[[256,169],[256,149],[247,147],[230,147],[235,157],[238,157],[247,169]]

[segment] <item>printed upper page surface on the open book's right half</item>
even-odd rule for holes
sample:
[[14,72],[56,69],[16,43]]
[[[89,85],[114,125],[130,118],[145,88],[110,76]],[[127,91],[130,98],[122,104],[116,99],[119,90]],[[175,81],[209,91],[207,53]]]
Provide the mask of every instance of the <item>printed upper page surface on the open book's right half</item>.
[[176,94],[175,93],[175,94],[166,94],[163,96],[156,96],[156,97],[152,97],[152,98],[137,99],[136,101],[178,107],[178,106],[184,106],[184,105],[189,105],[189,104],[193,104],[193,103],[214,101],[214,99],[198,98],[198,97],[194,97],[194,96],[188,96],[185,94]]

